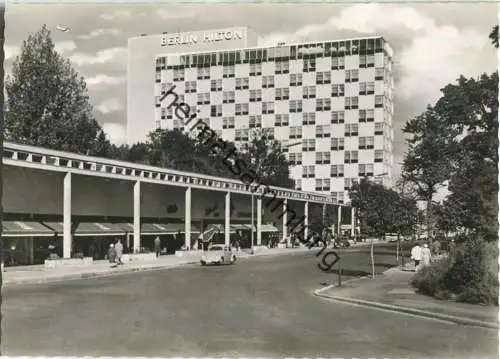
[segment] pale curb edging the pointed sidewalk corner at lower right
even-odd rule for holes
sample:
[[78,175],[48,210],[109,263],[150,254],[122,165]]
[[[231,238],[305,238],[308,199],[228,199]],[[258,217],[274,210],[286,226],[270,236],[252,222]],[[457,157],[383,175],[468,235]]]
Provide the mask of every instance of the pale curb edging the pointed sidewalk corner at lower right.
[[[400,269],[400,268],[388,269],[387,271],[383,272],[383,274],[385,274],[388,271],[395,271],[396,269]],[[349,280],[346,280],[344,283],[354,282],[354,281],[361,280],[364,278],[367,278],[367,276],[349,279]],[[404,306],[400,306],[400,305],[385,304],[385,303],[381,303],[381,302],[375,302],[375,301],[364,300],[364,299],[322,294],[322,292],[327,291],[327,290],[332,289],[332,288],[336,288],[336,287],[338,287],[338,286],[335,284],[329,285],[327,287],[320,288],[320,289],[313,291],[313,294],[317,297],[326,298],[326,299],[334,300],[334,301],[337,301],[340,303],[345,303],[345,304],[358,305],[358,306],[362,306],[365,308],[383,309],[383,310],[390,311],[393,313],[410,314],[410,315],[415,315],[418,317],[423,317],[425,319],[441,320],[441,321],[446,321],[448,323],[453,323],[453,324],[458,324],[458,325],[468,325],[468,326],[474,326],[474,327],[480,327],[480,328],[486,328],[486,329],[495,329],[495,330],[500,329],[500,325],[498,323],[484,322],[484,321],[477,320],[477,319],[471,319],[471,318],[466,318],[466,317],[457,317],[457,316],[448,315],[448,314],[430,312],[427,310],[404,307]]]

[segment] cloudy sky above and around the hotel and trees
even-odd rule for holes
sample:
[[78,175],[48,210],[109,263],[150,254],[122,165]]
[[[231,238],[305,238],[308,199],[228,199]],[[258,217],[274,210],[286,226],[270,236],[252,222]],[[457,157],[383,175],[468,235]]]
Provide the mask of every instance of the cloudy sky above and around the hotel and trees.
[[[405,151],[401,127],[439,98],[460,74],[497,67],[488,34],[496,4],[144,4],[15,5],[6,12],[6,71],[29,33],[43,24],[56,47],[87,79],[95,115],[112,141],[124,141],[127,38],[143,33],[248,26],[264,41],[287,42],[381,35],[395,50],[395,155]],[[58,24],[71,31],[56,30]]]

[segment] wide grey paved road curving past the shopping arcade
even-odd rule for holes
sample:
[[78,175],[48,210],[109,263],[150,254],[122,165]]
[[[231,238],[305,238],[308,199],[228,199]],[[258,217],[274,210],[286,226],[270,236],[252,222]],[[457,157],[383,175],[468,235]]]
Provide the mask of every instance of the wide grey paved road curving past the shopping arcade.
[[[378,271],[394,262],[377,259]],[[6,288],[2,354],[497,357],[493,331],[312,296],[336,280],[317,262],[302,253]],[[343,253],[342,263],[344,273],[363,274],[369,254]]]

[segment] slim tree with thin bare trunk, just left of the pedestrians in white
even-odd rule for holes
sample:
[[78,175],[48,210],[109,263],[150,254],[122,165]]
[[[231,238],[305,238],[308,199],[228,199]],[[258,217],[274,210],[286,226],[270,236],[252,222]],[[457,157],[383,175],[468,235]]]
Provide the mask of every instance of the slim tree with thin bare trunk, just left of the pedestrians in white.
[[438,111],[431,106],[409,120],[403,128],[411,137],[403,161],[402,178],[415,186],[417,198],[425,201],[427,238],[431,238],[431,210],[437,190],[449,179],[457,129],[447,128]]

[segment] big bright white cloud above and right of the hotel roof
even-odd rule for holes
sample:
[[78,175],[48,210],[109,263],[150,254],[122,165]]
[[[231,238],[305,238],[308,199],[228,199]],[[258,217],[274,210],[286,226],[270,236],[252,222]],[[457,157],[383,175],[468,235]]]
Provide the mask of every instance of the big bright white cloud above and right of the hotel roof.
[[272,33],[262,41],[272,45],[317,39],[322,35],[326,39],[339,31],[377,33],[385,38],[392,34],[407,39],[394,55],[400,75],[396,93],[406,100],[419,101],[422,110],[439,98],[440,88],[454,82],[460,74],[472,77],[496,67],[496,59],[490,56],[493,47],[488,34],[467,27],[437,25],[417,10],[401,5],[349,6],[325,23],[309,24],[294,33]]

